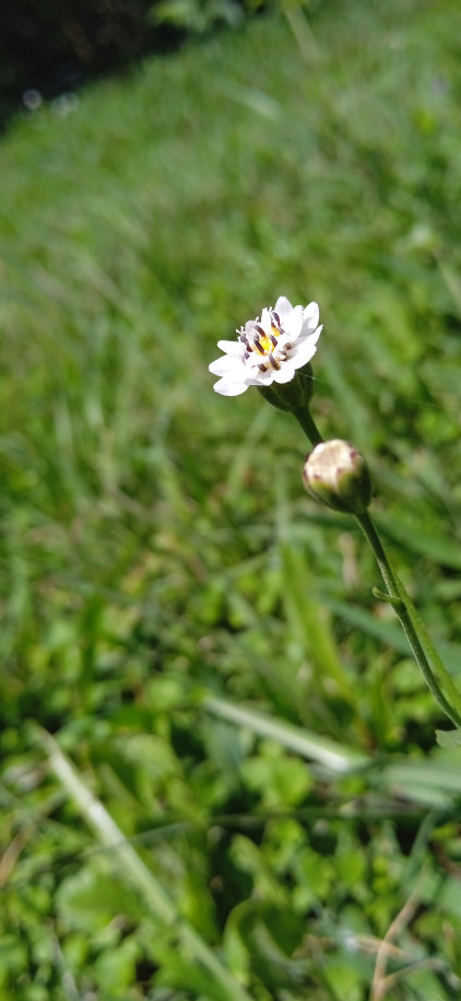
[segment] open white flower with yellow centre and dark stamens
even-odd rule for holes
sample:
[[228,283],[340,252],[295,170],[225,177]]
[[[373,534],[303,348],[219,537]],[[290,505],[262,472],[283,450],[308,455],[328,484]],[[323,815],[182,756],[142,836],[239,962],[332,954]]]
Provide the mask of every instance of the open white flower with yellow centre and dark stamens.
[[319,307],[292,306],[280,295],[273,310],[264,309],[261,318],[249,319],[237,330],[237,340],[218,340],[222,358],[209,365],[221,377],[213,389],[222,396],[239,396],[248,386],[270,386],[289,382],[314,358],[321,334]]

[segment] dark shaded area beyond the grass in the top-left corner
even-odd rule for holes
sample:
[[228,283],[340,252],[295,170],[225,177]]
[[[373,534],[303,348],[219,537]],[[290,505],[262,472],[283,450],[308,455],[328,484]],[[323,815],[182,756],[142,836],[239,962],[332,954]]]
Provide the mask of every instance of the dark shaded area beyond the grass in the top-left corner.
[[126,69],[144,53],[178,44],[184,32],[153,26],[152,7],[152,0],[0,4],[0,124],[27,91],[55,97],[91,77]]

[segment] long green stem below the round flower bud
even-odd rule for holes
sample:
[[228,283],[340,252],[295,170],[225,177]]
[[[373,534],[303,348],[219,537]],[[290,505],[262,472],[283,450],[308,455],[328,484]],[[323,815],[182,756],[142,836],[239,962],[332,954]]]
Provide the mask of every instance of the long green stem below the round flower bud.
[[[375,554],[395,615],[401,621],[428,688],[440,709],[444,710],[456,726],[461,726],[461,696],[433,645],[413,602],[393,569],[368,511],[364,514],[356,514],[355,517]],[[451,705],[440,688],[437,674],[442,680],[445,689],[449,692]]]

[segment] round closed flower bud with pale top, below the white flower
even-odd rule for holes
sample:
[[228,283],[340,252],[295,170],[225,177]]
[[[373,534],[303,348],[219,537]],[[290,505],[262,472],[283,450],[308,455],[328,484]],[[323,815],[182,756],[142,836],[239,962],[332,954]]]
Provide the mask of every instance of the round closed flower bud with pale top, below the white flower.
[[339,439],[321,442],[308,456],[304,486],[315,500],[334,511],[363,514],[371,500],[371,480],[357,449]]

